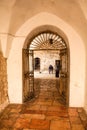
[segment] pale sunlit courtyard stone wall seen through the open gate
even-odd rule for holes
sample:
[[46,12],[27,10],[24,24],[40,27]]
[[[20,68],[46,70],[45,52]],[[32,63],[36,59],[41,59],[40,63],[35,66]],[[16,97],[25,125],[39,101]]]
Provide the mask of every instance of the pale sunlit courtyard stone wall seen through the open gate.
[[40,71],[48,71],[48,67],[51,64],[55,68],[55,60],[60,60],[59,51],[46,50],[46,51],[34,51],[34,58],[40,58]]

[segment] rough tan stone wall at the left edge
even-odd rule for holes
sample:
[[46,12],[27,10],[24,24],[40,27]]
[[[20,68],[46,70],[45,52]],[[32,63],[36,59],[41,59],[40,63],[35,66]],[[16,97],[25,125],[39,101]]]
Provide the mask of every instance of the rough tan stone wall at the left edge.
[[8,104],[7,60],[0,52],[0,111]]

